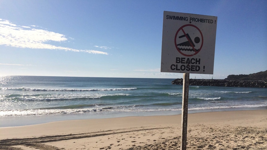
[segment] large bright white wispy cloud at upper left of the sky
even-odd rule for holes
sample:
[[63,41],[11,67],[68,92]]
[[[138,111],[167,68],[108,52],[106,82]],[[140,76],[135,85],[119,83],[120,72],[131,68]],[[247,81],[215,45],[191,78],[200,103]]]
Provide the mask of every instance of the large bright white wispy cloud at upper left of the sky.
[[[31,27],[38,26],[31,25]],[[60,33],[31,27],[19,26],[11,23],[9,20],[0,19],[0,45],[30,49],[59,49],[92,54],[108,54],[106,52],[96,50],[78,50],[46,44],[49,41],[62,42],[67,41],[68,39],[65,35]]]

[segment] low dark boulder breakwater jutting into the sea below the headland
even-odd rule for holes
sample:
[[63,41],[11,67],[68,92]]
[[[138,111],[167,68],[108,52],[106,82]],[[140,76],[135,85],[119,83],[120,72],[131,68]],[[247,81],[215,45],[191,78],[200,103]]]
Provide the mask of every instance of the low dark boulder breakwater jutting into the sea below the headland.
[[[183,79],[175,79],[172,84],[183,85]],[[189,79],[189,85],[267,88],[267,81]]]

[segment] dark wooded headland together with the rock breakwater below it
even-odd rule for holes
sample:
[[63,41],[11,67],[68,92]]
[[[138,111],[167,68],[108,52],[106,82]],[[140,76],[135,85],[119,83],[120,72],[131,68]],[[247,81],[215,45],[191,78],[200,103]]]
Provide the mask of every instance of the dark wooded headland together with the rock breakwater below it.
[[[172,84],[183,85],[183,79],[175,79]],[[228,75],[225,79],[189,79],[189,85],[267,88],[267,70],[249,75]]]

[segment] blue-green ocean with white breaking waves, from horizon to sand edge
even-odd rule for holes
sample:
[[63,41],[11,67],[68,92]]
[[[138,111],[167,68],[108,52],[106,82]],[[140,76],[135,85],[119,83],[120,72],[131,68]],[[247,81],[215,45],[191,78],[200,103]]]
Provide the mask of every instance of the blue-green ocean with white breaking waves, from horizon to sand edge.
[[[181,114],[174,79],[2,76],[0,127]],[[266,88],[189,86],[189,113],[267,109]]]

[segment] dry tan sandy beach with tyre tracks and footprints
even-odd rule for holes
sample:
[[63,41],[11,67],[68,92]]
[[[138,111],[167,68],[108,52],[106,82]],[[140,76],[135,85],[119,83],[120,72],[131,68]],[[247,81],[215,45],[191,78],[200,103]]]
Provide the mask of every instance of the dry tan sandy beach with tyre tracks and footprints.
[[[180,149],[181,115],[50,122],[0,128],[0,149]],[[267,149],[267,110],[188,115],[187,149]]]

